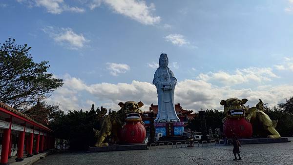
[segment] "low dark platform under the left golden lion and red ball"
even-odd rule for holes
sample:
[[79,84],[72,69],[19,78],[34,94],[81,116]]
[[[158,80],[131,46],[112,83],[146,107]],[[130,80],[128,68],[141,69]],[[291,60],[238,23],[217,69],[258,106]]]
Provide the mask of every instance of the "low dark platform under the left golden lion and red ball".
[[89,152],[126,151],[147,149],[146,144],[109,145],[103,147],[89,147]]

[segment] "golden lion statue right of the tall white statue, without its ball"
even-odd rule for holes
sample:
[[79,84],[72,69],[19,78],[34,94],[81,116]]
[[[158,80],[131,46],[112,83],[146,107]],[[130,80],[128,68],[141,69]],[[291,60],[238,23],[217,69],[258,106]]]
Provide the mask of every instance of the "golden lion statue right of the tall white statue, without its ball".
[[[258,124],[262,132],[270,133],[271,135],[268,135],[268,138],[280,138],[280,134],[275,130],[278,121],[272,121],[264,112],[264,103],[259,99],[259,103],[255,107],[248,108],[244,105],[246,102],[248,102],[247,99],[230,98],[222,100],[220,104],[224,105],[226,118],[244,117],[252,125]],[[225,123],[226,118],[223,119],[223,123]]]

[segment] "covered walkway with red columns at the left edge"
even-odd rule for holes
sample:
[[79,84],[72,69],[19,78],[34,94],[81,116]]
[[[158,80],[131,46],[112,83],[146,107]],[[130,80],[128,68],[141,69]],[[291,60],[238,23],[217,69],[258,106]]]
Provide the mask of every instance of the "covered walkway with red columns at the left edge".
[[[20,111],[0,103],[0,165],[16,156],[20,162],[44,150],[54,148],[53,131]],[[26,154],[26,156],[24,155]]]

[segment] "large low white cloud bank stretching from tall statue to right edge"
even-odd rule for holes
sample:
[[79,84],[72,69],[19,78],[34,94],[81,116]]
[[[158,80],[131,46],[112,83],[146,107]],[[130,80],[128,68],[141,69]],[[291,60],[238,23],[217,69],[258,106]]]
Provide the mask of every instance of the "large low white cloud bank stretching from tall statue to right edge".
[[220,105],[221,100],[237,97],[249,100],[247,105],[255,106],[258,99],[262,99],[269,106],[284,102],[284,98],[292,97],[292,85],[267,86],[263,89],[252,90],[232,89],[224,86],[219,87],[202,80],[184,80],[179,82],[175,89],[175,102],[181,103],[186,109],[223,109]]

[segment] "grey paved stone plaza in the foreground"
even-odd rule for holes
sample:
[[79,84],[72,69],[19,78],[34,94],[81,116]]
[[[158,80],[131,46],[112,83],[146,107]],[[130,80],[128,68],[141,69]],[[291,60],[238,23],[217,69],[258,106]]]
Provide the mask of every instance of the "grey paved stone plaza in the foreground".
[[165,146],[165,149],[60,153],[49,155],[36,165],[293,165],[293,142],[246,144],[241,146],[240,153],[242,160],[233,161],[230,145],[193,148]]

